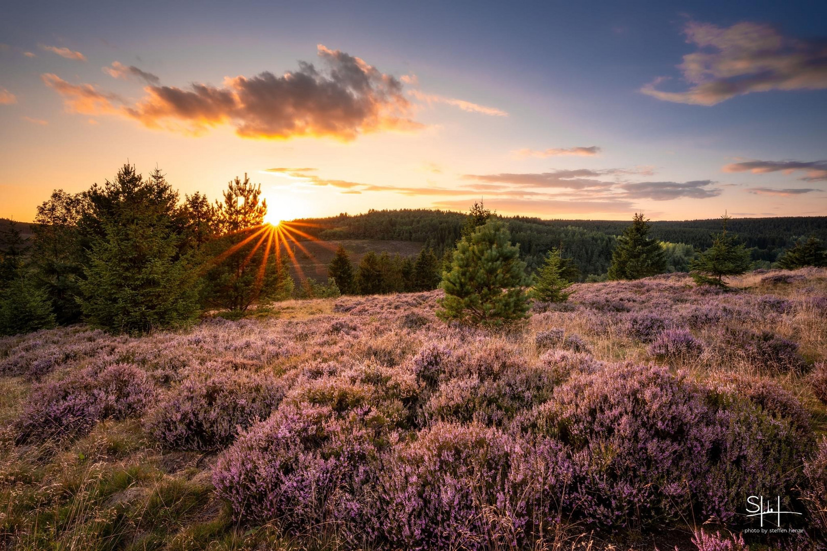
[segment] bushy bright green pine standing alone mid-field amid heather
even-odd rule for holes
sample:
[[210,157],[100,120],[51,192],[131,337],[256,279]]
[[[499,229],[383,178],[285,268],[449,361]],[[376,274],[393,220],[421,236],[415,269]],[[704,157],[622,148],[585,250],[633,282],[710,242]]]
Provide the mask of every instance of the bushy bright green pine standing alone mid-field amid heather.
[[502,325],[525,317],[528,297],[523,286],[531,280],[510,238],[502,222],[489,221],[460,241],[451,271],[442,274],[440,319]]

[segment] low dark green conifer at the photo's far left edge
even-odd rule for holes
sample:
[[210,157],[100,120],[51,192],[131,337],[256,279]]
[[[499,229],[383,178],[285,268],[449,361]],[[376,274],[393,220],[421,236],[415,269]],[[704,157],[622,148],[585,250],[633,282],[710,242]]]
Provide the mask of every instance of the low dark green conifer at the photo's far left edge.
[[0,335],[17,335],[55,326],[55,314],[46,293],[19,277],[0,291]]

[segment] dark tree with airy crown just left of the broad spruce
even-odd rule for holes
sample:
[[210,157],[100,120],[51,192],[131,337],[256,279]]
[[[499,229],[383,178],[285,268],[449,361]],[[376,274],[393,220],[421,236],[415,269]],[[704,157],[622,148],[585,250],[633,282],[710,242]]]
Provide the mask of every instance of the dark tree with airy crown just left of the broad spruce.
[[89,208],[86,194],[57,189],[37,207],[36,226],[32,226],[31,273],[49,297],[60,325],[79,321],[82,314],[78,297],[85,253],[80,250],[78,224]]

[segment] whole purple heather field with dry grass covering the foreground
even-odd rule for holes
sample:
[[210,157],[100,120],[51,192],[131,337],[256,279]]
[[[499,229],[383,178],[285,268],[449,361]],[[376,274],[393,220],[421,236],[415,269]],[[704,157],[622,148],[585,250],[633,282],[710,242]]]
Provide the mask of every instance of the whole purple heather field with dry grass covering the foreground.
[[[7,549],[824,549],[827,269],[0,340]],[[748,496],[788,534],[754,536]]]

